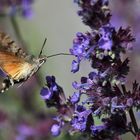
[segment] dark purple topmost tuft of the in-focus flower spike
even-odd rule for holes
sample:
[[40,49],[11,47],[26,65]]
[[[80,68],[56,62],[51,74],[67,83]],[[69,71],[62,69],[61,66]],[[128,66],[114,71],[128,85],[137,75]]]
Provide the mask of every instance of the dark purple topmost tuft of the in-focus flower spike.
[[110,10],[108,0],[75,0],[81,8],[78,15],[83,22],[92,29],[98,29],[110,21]]

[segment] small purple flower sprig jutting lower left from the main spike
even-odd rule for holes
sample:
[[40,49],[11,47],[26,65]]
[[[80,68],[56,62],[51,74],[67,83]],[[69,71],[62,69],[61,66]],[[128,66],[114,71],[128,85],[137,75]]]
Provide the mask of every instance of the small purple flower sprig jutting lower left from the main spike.
[[57,136],[64,121],[69,122],[72,118],[74,106],[67,101],[63,89],[56,83],[54,76],[46,77],[46,86],[42,88],[40,95],[47,107],[55,107],[59,112],[59,115],[54,118],[57,123],[51,128],[52,135]]

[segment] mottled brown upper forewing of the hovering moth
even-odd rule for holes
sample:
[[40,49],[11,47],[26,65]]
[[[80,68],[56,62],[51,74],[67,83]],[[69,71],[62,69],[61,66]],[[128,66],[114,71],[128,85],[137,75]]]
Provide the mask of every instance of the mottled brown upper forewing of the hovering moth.
[[23,49],[18,47],[15,41],[3,32],[0,32],[0,51],[10,52],[19,58],[25,58],[27,56]]

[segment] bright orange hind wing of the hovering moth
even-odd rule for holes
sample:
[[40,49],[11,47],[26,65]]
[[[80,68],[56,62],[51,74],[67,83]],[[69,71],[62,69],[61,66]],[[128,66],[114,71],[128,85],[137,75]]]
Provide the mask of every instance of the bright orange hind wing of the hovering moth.
[[24,63],[27,63],[24,59],[8,52],[0,51],[0,67],[10,78],[18,80],[22,74]]

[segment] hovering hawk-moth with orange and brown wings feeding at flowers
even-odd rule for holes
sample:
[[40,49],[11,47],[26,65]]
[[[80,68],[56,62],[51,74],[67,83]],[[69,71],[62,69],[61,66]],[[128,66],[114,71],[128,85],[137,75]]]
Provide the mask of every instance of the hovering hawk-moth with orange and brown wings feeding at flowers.
[[[45,42],[46,39],[42,49]],[[10,36],[0,32],[0,69],[4,73],[0,93],[14,84],[22,84],[39,70],[47,60],[47,56],[42,55],[42,49],[38,57],[28,55]]]

